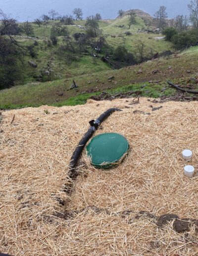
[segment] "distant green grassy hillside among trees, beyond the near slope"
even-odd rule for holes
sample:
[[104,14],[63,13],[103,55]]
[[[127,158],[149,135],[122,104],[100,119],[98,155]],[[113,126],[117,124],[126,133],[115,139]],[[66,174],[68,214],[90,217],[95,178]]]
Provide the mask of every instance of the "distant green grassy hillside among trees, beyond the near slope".
[[[137,30],[143,27],[146,27],[144,21],[140,17],[136,17],[136,24],[131,26],[131,29],[128,29],[127,25],[128,17],[124,16],[123,18],[117,18],[115,20],[106,20],[99,21],[99,29],[101,35],[105,37],[107,44],[115,49],[118,45],[125,46],[129,52],[133,53],[135,58],[138,58],[138,49],[137,45],[139,40],[142,40],[145,44],[144,54],[145,56],[150,56],[151,53],[163,52],[166,50],[171,50],[171,44],[165,40],[156,41],[154,38],[158,35],[156,34],[147,34],[147,33],[137,33]],[[93,58],[91,53],[88,55],[82,55],[76,58],[73,61],[68,61],[65,59],[67,52],[64,55],[58,55],[58,48],[63,44],[63,37],[58,37],[57,46],[48,47],[46,39],[50,37],[50,30],[52,25],[57,23],[57,21],[49,21],[47,28],[45,26],[39,27],[37,24],[32,23],[34,29],[34,38],[28,38],[25,34],[21,36],[16,36],[17,41],[23,45],[32,45],[34,41],[38,42],[38,46],[34,47],[36,56],[32,58],[31,56],[25,57],[24,59],[24,68],[23,73],[25,76],[24,83],[36,81],[35,76],[40,74],[40,69],[45,68],[48,64],[48,61],[53,58],[51,68],[54,70],[54,73],[57,77],[54,79],[63,79],[69,78],[81,74],[90,74],[92,72],[98,72],[102,70],[111,69],[111,67],[103,63],[100,58]],[[79,28],[77,25],[84,26],[86,23],[85,20],[75,21],[75,25],[62,25],[66,27],[70,36],[74,33],[86,33],[86,30]],[[124,25],[120,28],[119,26]],[[125,32],[130,31],[132,35],[126,36]],[[34,40],[34,41],[33,41]],[[32,68],[27,62],[29,60],[34,61],[38,67]]]

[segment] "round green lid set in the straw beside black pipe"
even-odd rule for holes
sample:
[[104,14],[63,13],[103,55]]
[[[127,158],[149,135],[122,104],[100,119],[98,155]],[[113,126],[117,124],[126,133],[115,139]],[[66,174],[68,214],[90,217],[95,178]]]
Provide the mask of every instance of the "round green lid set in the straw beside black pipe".
[[87,146],[87,154],[97,168],[110,168],[123,158],[129,149],[127,139],[118,133],[102,133]]

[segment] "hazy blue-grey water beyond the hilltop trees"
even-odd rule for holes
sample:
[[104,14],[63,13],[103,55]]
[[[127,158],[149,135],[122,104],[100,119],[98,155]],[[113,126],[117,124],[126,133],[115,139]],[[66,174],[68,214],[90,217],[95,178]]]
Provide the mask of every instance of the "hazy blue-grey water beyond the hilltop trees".
[[0,9],[19,21],[29,20],[47,14],[55,9],[61,15],[72,14],[76,7],[83,9],[83,16],[99,12],[103,19],[112,19],[117,16],[119,9],[141,9],[153,15],[160,5],[167,7],[168,17],[178,14],[187,14],[187,4],[190,0],[0,0]]

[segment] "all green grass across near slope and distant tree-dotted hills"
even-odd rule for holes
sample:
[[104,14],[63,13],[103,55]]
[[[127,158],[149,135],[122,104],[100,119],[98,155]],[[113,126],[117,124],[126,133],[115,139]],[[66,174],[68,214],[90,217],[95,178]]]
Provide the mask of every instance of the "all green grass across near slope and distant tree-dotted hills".
[[[128,17],[117,18],[115,20],[99,21],[100,29],[106,35],[106,40],[113,48],[118,45],[125,45],[127,49],[135,56],[137,55],[136,45],[139,40],[142,40],[145,45],[145,54],[150,53],[150,49],[155,52],[171,50],[171,44],[165,40],[156,41],[153,37],[155,34],[137,33],[138,28],[142,29],[145,26],[144,21],[137,17],[136,24],[131,26],[131,36],[126,36],[124,33],[128,31]],[[50,28],[56,21],[50,21],[48,29],[45,31],[49,35]],[[84,26],[85,20],[75,21],[75,24]],[[125,28],[118,27],[125,25]],[[35,36],[42,38],[43,27],[33,24]],[[67,26],[71,33],[83,32],[76,26]],[[116,35],[115,38],[111,35]],[[33,41],[27,39],[26,36],[17,36],[23,45],[31,45]],[[102,90],[126,90],[128,86],[139,86],[149,80],[161,80],[161,84],[150,83],[149,89],[143,89],[143,95],[149,97],[159,97],[161,95],[171,95],[174,90],[167,89],[161,94],[161,88],[166,85],[166,79],[176,79],[178,77],[189,76],[197,72],[198,66],[198,47],[193,47],[178,55],[178,58],[171,56],[169,58],[157,59],[119,70],[112,70],[110,66],[103,63],[100,58],[91,56],[82,56],[78,61],[68,63],[64,56],[58,57],[55,52],[62,43],[62,37],[58,38],[57,46],[46,47],[43,39],[37,40],[39,45],[35,47],[37,57],[24,58],[24,63],[33,60],[38,64],[37,68],[32,68],[29,64],[24,65],[23,74],[25,76],[24,84],[14,86],[10,89],[0,91],[0,108],[14,108],[26,106],[40,106],[43,104],[55,105],[76,105],[83,104],[90,95],[99,94]],[[66,53],[65,53],[66,54]],[[56,80],[50,82],[36,82],[34,75],[40,73],[40,69],[47,66],[49,59],[53,57],[51,68],[57,74]],[[193,64],[193,65],[192,65]],[[171,68],[170,68],[171,66]],[[156,74],[152,70],[159,69]],[[139,72],[141,70],[141,72]],[[187,73],[191,70],[191,74]],[[108,76],[113,75],[113,81],[108,81]],[[60,79],[61,78],[61,79]],[[79,85],[77,90],[68,90],[75,80]],[[135,85],[134,85],[135,84]],[[157,87],[158,86],[158,87]],[[148,91],[145,94],[145,91]],[[58,96],[59,92],[63,92],[63,96]],[[115,93],[115,91],[113,92]],[[150,96],[151,95],[151,96]]]

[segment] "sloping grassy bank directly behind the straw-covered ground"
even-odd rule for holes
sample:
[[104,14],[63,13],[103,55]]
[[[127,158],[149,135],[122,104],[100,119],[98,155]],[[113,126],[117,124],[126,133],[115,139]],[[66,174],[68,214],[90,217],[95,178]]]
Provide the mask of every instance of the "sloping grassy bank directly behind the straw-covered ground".
[[[179,55],[119,70],[105,70],[69,79],[46,83],[29,83],[5,89],[0,92],[0,108],[39,106],[43,104],[57,106],[83,104],[90,96],[98,95],[103,90],[112,94],[117,91],[140,90],[142,95],[148,97],[174,95],[176,90],[169,88],[166,80],[190,81],[192,76],[197,79],[197,66],[198,47],[193,47]],[[109,80],[109,76],[114,76],[114,78]],[[75,79],[79,87],[69,90],[73,79]],[[145,85],[145,82],[148,81],[151,82],[146,83],[147,86],[142,88],[142,85]],[[194,88],[198,87],[197,84],[193,86]],[[164,87],[166,87],[166,90],[162,92],[161,90]]]

